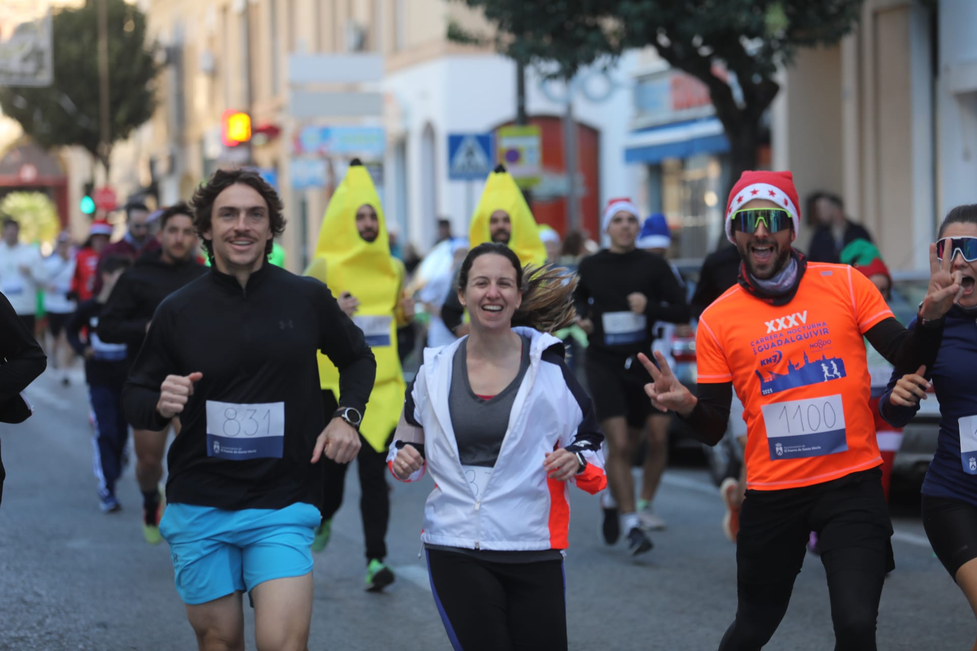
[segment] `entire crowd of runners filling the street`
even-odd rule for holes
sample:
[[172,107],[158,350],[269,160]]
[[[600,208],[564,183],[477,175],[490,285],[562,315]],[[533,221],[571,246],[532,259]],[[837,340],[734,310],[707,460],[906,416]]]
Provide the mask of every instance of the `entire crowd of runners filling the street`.
[[[428,474],[417,524],[446,636],[496,651],[568,647],[571,485],[599,496],[607,545],[652,552],[675,417],[703,443],[744,447],[742,476],[720,489],[738,603],[719,648],[767,643],[811,547],[835,648],[871,650],[894,568],[892,458],[929,391],[942,419],[923,523],[977,613],[977,205],[935,233],[906,326],[869,234],[835,197],[805,210],[829,216],[811,258],[794,246],[805,222],[790,173],[743,173],[725,211],[730,246],[705,259],[691,297],[667,261],[663,216],[612,200],[606,248],[578,235],[561,246],[501,166],[468,237],[443,224],[409,267],[356,160],[301,275],[276,244],[281,199],[247,170],[219,170],[154,213],[130,205],[122,239],[96,221],[77,254],[63,237],[46,261],[8,220],[0,420],[29,416],[20,391],[44,370],[41,288],[63,342],[46,347],[51,366],[67,384],[65,346],[84,359],[98,506],[125,512],[116,486],[131,428],[143,535],[168,544],[200,649],[243,649],[245,592],[260,649],[306,648],[313,553],[328,548],[355,460],[365,589],[396,581],[389,482]],[[668,344],[693,325],[688,387]]]

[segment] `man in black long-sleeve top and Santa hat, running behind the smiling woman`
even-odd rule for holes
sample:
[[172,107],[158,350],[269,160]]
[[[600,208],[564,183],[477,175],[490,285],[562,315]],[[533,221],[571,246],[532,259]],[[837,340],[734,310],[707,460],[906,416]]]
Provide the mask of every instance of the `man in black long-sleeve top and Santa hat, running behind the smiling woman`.
[[[611,495],[602,496],[604,539],[614,545],[623,524],[632,554],[652,549],[635,509],[631,460],[643,435],[658,431],[650,454],[664,455],[667,432],[651,427],[647,382],[635,355],[650,352],[657,321],[685,323],[685,293],[663,258],[636,248],[638,209],[616,200],[604,211],[611,247],[584,258],[578,269],[574,302],[577,323],[587,333],[587,389],[607,437],[607,475]],[[608,500],[614,498],[614,503]],[[618,521],[618,511],[620,520]],[[664,526],[658,520],[658,528]]]

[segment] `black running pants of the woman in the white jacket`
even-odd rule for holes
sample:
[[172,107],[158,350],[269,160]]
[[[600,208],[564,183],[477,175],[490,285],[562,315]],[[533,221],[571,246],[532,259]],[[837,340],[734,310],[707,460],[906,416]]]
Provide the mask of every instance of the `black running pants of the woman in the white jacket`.
[[431,591],[454,651],[566,651],[562,560],[499,563],[427,550]]

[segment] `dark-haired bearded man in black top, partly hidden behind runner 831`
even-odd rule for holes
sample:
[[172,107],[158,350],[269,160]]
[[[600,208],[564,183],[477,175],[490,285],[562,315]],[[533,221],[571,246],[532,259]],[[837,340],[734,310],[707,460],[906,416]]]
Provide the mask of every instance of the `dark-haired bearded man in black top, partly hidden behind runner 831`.
[[[193,260],[196,233],[191,212],[190,206],[183,202],[163,211],[158,220],[159,248],[144,253],[118,279],[99,317],[99,339],[106,344],[127,346],[130,360],[143,346],[156,307],[170,294],[207,272],[206,266]],[[99,269],[102,266],[99,264]],[[163,476],[168,429],[154,431],[133,424],[136,480],[143,493],[143,536],[150,545],[162,542],[159,536],[159,479]],[[178,422],[174,422],[174,431],[179,431]]]

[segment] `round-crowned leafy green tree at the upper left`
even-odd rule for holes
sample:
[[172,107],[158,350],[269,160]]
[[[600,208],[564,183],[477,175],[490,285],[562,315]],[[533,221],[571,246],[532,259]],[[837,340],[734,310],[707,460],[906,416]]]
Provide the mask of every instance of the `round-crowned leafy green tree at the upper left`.
[[[108,142],[99,110],[99,11],[106,2]],[[108,171],[112,143],[125,140],[152,116],[152,82],[159,65],[147,43],[146,16],[125,0],[86,0],[52,20],[54,83],[46,88],[0,88],[3,112],[44,147],[80,145]]]

